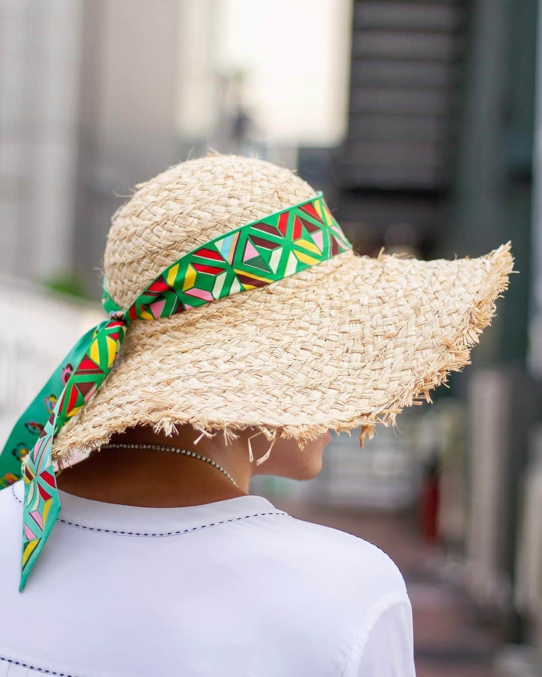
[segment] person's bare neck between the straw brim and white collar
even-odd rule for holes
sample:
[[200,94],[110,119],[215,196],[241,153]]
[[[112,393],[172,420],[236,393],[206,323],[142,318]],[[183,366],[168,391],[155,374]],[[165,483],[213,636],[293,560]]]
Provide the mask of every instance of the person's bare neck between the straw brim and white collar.
[[110,444],[160,444],[200,452],[219,463],[235,485],[210,464],[172,452],[112,447],[91,454],[58,476],[58,487],[68,494],[106,503],[171,508],[245,496],[252,475],[246,453],[233,445],[220,445],[222,436],[201,437],[183,426],[166,437],[152,428],[134,428],[114,435]]

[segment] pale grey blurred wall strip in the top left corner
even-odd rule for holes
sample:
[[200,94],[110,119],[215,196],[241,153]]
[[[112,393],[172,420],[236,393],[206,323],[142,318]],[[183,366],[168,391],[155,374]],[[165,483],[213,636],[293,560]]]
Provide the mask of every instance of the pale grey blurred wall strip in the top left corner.
[[0,2],[0,271],[45,278],[72,244],[82,0]]

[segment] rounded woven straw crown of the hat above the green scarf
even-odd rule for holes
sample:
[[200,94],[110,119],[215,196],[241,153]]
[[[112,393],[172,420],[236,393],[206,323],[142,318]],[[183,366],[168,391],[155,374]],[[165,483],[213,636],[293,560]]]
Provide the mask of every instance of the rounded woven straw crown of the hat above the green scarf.
[[114,216],[104,257],[122,307],[196,246],[316,194],[287,169],[231,156],[183,162],[137,188]]

